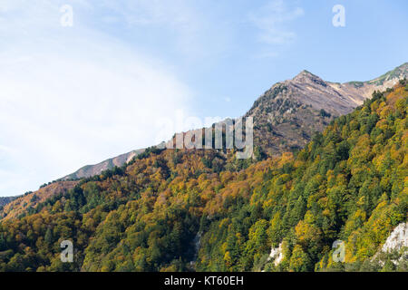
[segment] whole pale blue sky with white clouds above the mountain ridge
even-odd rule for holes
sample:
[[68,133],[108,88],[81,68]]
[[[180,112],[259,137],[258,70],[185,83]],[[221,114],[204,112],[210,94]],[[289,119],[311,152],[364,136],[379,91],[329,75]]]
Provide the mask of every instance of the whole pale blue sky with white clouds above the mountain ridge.
[[406,19],[404,0],[0,0],[0,196],[165,140],[180,111],[238,117],[304,69],[373,79],[408,61]]

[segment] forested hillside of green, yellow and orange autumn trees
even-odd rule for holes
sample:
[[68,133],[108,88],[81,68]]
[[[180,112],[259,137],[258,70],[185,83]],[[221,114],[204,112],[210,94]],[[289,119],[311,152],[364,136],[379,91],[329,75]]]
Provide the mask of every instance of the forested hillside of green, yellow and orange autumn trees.
[[[407,219],[407,107],[404,82],[374,92],[274,159],[146,150],[0,220],[0,271],[406,271],[374,256]],[[345,263],[332,259],[338,239]]]

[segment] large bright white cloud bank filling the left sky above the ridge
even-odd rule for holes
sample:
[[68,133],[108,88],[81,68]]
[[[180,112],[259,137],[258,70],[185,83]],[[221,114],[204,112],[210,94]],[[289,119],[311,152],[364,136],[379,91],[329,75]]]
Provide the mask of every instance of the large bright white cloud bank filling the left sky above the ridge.
[[156,118],[190,111],[168,66],[30,3],[0,2],[0,196],[153,145]]

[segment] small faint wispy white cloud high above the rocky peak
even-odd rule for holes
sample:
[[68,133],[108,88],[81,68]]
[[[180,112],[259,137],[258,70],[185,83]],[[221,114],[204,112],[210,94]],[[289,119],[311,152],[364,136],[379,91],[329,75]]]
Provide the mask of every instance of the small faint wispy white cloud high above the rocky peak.
[[290,8],[283,0],[267,3],[249,14],[249,21],[259,30],[257,40],[267,44],[291,43],[296,33],[287,28],[287,24],[305,14],[301,7]]

